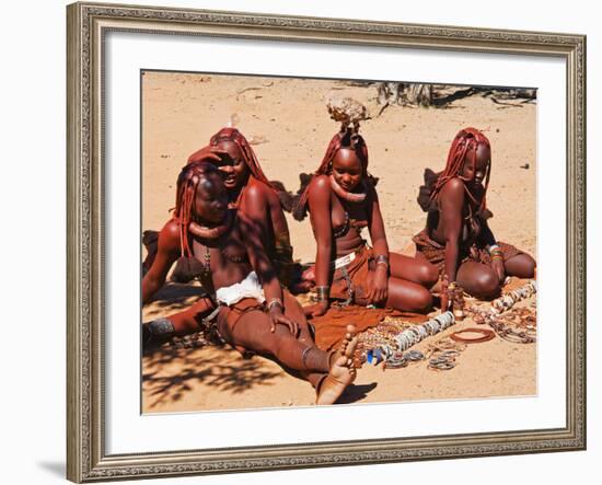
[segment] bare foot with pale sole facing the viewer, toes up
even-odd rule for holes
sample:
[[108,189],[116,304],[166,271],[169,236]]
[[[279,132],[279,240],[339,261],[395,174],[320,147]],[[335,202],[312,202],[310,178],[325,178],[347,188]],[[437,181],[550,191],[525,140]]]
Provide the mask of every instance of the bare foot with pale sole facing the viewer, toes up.
[[334,404],[345,388],[356,380],[354,351],[357,345],[358,337],[355,335],[355,327],[349,325],[341,348],[331,365],[331,371],[320,384],[316,404]]

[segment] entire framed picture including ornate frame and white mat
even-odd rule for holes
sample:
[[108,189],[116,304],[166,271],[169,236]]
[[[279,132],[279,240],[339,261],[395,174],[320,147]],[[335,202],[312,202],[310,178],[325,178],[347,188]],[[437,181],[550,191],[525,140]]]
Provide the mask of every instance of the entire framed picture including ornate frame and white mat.
[[584,449],[584,36],[67,13],[69,480]]

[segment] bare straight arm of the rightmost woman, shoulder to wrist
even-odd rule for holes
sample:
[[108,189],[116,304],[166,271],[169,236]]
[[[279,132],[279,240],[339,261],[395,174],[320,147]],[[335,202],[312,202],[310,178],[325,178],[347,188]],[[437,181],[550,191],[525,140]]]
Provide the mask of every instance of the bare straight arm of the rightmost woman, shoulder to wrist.
[[462,234],[462,208],[464,206],[464,183],[460,178],[449,181],[440,193],[441,217],[445,238],[445,275],[450,282],[455,281],[460,238]]

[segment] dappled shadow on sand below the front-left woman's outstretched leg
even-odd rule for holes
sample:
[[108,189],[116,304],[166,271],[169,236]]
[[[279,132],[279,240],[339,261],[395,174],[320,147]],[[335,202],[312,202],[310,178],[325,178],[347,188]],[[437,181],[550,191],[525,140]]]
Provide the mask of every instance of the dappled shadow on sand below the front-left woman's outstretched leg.
[[[149,407],[181,401],[196,385],[241,394],[255,386],[273,385],[271,381],[280,376],[279,371],[266,369],[259,357],[243,359],[235,351],[212,349],[213,353],[209,348],[167,347],[144,357],[142,382]],[[220,353],[217,358],[216,351]]]

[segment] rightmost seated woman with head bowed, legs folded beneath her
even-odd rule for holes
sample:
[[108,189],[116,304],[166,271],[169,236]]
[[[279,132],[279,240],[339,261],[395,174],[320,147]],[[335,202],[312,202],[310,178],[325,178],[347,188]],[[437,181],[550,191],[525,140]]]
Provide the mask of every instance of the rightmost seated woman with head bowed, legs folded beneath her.
[[417,252],[479,299],[495,298],[506,276],[533,278],[535,261],[499,242],[487,224],[491,212],[486,194],[491,149],[478,129],[465,128],[454,138],[443,172],[427,170],[418,203],[428,211],[426,228],[414,236]]

